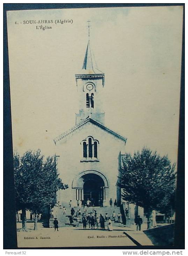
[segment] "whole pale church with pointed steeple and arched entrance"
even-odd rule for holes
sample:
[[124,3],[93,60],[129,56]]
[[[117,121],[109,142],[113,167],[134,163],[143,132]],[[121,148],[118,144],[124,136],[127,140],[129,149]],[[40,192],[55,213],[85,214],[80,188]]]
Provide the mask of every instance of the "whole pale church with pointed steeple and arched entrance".
[[[59,190],[57,201],[72,206],[77,200],[93,200],[95,206],[109,206],[112,198],[121,204],[117,186],[126,138],[105,126],[103,109],[104,73],[97,69],[88,40],[83,66],[75,74],[79,99],[75,126],[54,139],[59,177],[68,189]],[[113,117],[112,117],[113,118]]]

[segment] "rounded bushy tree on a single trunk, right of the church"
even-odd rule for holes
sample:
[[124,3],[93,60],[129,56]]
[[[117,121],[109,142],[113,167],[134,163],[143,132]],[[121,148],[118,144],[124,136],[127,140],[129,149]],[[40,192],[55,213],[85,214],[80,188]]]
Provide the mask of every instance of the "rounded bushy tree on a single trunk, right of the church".
[[144,208],[147,228],[151,228],[152,210],[169,204],[175,189],[175,164],[168,156],[143,148],[133,157],[125,154],[120,170],[119,186],[123,188],[123,199]]

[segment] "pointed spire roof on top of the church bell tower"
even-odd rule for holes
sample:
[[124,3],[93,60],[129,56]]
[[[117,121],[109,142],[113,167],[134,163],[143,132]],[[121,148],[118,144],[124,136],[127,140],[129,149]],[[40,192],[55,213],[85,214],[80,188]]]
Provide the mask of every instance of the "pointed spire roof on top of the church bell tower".
[[91,49],[90,40],[88,40],[86,53],[84,57],[84,63],[82,66],[82,70],[81,72],[79,72],[79,74],[104,74],[97,68],[95,56]]

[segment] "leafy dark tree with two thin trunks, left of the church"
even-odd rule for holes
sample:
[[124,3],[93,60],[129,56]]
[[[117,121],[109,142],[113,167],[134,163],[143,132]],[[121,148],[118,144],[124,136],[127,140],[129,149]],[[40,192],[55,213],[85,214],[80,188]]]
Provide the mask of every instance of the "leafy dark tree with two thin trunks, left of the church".
[[35,214],[34,230],[37,229],[37,214],[45,207],[56,203],[58,189],[68,186],[62,183],[56,169],[56,158],[44,156],[40,150],[27,151],[22,157],[14,154],[16,207],[22,210],[22,230],[27,231],[26,210]]

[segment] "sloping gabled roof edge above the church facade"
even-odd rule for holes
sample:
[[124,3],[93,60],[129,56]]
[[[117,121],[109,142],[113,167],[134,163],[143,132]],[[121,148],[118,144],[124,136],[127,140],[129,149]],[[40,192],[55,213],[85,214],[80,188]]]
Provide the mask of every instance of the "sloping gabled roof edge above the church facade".
[[59,140],[62,140],[64,137],[66,137],[67,135],[73,133],[75,130],[79,129],[80,127],[84,126],[86,123],[92,123],[92,124],[95,124],[96,126],[98,126],[99,128],[105,130],[107,133],[110,133],[112,135],[114,135],[115,137],[117,137],[118,139],[126,142],[126,138],[119,135],[118,133],[114,132],[113,130],[107,128],[106,126],[104,126],[103,124],[95,121],[94,119],[91,119],[89,117],[87,117],[85,120],[83,120],[82,122],[78,123],[77,125],[75,125],[74,127],[72,127],[70,130],[68,130],[67,132],[59,135],[58,137],[56,137],[53,141],[56,142],[59,141]]

